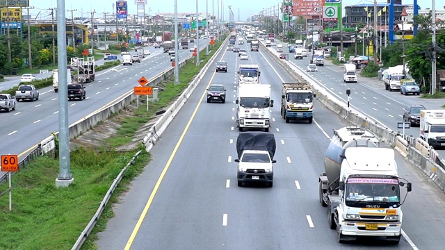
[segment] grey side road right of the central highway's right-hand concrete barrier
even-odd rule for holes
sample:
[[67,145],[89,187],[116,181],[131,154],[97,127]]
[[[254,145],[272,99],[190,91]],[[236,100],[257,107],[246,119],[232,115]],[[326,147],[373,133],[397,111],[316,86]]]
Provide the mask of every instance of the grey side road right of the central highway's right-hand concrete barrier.
[[[282,43],[284,44],[284,43]],[[283,45],[285,53],[289,53],[287,44]],[[273,49],[276,49],[273,47]],[[427,109],[443,109],[442,99],[422,99],[414,95],[402,95],[400,92],[389,92],[385,90],[383,82],[376,82],[368,78],[358,76],[357,83],[343,82],[343,67],[333,65],[329,60],[325,60],[325,66],[319,66],[318,72],[306,72],[309,65],[311,53],[303,60],[293,59],[293,53],[289,54],[289,62],[302,70],[303,74],[311,77],[318,84],[323,85],[335,97],[347,102],[346,89],[351,90],[350,106],[361,110],[362,113],[373,117],[380,124],[384,124],[392,131],[403,133],[401,128],[397,128],[398,122],[403,122],[403,109],[410,104],[422,104]],[[406,135],[419,137],[419,127],[405,129]],[[436,149],[441,158],[445,158],[445,151]]]

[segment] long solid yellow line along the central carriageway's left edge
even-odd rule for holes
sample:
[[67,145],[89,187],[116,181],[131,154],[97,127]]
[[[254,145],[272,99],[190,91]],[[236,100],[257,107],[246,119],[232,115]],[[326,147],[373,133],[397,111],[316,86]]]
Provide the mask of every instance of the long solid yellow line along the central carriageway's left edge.
[[[224,58],[224,56],[225,56],[225,51],[223,53],[223,58]],[[158,181],[156,182],[156,185],[154,185],[152,194],[150,194],[150,197],[149,197],[147,203],[145,204],[145,208],[142,211],[142,213],[140,214],[140,217],[138,219],[138,222],[136,223],[136,226],[133,228],[133,233],[131,233],[131,236],[130,236],[128,242],[127,242],[127,245],[124,248],[125,250],[129,250],[130,247],[131,247],[131,244],[133,244],[133,240],[134,240],[134,238],[136,238],[136,235],[138,234],[140,225],[144,221],[145,216],[147,215],[147,212],[148,212],[150,206],[152,205],[154,196],[156,195],[156,192],[158,192],[159,186],[161,185],[161,182],[163,181],[163,178],[164,178],[165,174],[167,173],[167,170],[170,167],[170,164],[172,163],[173,158],[175,158],[176,152],[179,149],[179,146],[181,145],[182,140],[184,140],[184,136],[186,136],[186,133],[188,131],[188,128],[190,127],[190,124],[193,122],[193,119],[195,119],[195,115],[197,113],[197,110],[198,110],[198,108],[200,108],[202,100],[204,100],[204,97],[207,94],[207,89],[211,85],[211,83],[213,81],[213,78],[215,77],[215,74],[216,74],[216,72],[213,72],[213,75],[210,78],[210,81],[209,81],[209,84],[206,87],[206,90],[204,90],[204,93],[202,93],[201,99],[197,103],[196,108],[193,111],[193,114],[191,115],[190,119],[188,120],[188,123],[187,123],[186,127],[184,128],[184,131],[182,132],[181,137],[179,138],[179,140],[178,140],[178,142],[177,142],[177,144],[175,146],[175,149],[173,149],[172,154],[170,155],[170,158],[168,159],[167,163],[165,164],[165,167],[164,167],[164,169],[163,169],[163,171],[161,173],[161,176],[159,176]]]

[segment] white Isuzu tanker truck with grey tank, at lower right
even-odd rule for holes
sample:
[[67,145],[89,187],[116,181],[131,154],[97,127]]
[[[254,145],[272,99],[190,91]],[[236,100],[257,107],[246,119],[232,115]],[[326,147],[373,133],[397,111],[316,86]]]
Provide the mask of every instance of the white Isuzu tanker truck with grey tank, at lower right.
[[394,149],[379,146],[378,138],[362,128],[334,129],[318,184],[339,243],[380,237],[398,244],[401,239],[401,205],[412,185],[398,176]]

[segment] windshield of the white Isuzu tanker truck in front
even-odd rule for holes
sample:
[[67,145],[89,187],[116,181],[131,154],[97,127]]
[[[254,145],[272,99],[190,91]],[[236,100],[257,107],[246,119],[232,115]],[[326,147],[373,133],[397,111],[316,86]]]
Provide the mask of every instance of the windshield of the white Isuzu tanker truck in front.
[[372,203],[401,200],[396,178],[348,178],[345,194],[346,201]]

